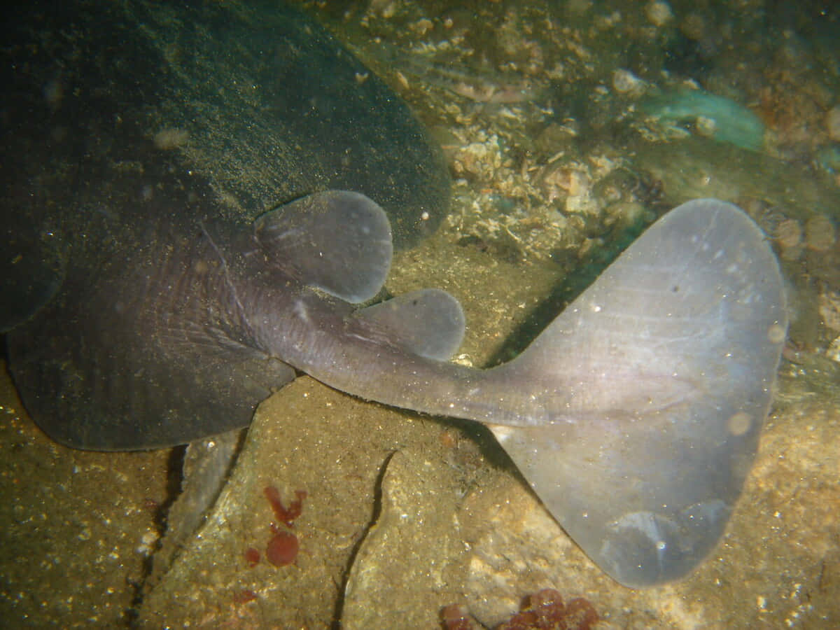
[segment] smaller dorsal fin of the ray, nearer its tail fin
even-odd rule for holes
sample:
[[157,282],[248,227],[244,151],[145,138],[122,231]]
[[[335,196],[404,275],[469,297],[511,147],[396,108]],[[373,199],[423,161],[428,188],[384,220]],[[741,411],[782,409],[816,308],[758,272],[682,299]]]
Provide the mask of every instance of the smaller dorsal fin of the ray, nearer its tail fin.
[[446,291],[421,289],[355,312],[373,333],[413,354],[447,361],[464,340],[464,311]]

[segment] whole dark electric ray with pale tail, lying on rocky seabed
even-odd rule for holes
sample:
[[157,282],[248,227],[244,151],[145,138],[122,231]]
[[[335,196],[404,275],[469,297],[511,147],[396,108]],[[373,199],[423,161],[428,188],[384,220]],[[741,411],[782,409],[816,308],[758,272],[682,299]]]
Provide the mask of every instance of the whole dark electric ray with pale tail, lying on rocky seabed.
[[[141,31],[156,41],[155,28],[169,23],[147,17]],[[366,399],[485,423],[558,522],[622,584],[656,585],[701,562],[748,474],[787,326],[777,262],[751,219],[716,200],[675,208],[517,359],[491,370],[454,365],[448,358],[464,318],[444,291],[357,306],[381,290],[391,263],[391,222],[379,204],[360,192],[298,194],[247,223],[264,189],[210,169],[209,157],[225,155],[210,139],[200,150],[169,153],[143,143],[150,118],[171,116],[171,87],[190,87],[181,77],[191,64],[165,67],[172,76],[155,88],[154,115],[139,107],[131,81],[116,84],[122,95],[105,92],[99,108],[77,98],[102,78],[95,73],[79,75],[74,97],[10,105],[15,124],[4,139],[19,163],[14,180],[3,178],[6,198],[24,208],[43,202],[45,212],[36,239],[7,228],[13,265],[39,274],[17,292],[28,298],[18,319],[36,312],[8,333],[8,357],[46,433],[84,449],[180,444],[247,425],[256,403],[297,369]],[[10,93],[32,99],[31,79],[18,77]],[[198,102],[186,99],[190,108]],[[51,123],[24,127],[27,108],[50,107]],[[101,108],[120,115],[103,120]],[[315,108],[303,118],[327,128],[336,111]],[[257,127],[286,114],[260,116]],[[70,126],[56,129],[55,119]],[[377,119],[374,110],[354,122],[370,130]],[[396,119],[415,129],[410,118]],[[35,142],[49,138],[52,156],[49,144]],[[417,138],[382,142],[398,150]],[[322,150],[333,155],[335,147],[317,145],[302,164],[318,162]],[[403,177],[404,155],[391,154],[399,155],[391,170],[385,165],[394,160],[367,161],[365,150],[342,176],[373,169],[381,188],[402,182],[403,201],[423,194],[424,181],[441,181],[417,171]],[[293,181],[299,166],[288,160],[297,153],[279,151],[276,164],[260,154],[259,172]],[[423,155],[434,164],[431,150]],[[220,171],[232,164],[222,161]],[[319,172],[320,183],[342,181]],[[62,184],[71,188],[66,196]],[[238,204],[249,212],[234,211]],[[25,223],[16,210],[4,203],[7,225]],[[9,277],[4,286],[15,287],[24,274]],[[3,313],[8,321],[14,314]]]

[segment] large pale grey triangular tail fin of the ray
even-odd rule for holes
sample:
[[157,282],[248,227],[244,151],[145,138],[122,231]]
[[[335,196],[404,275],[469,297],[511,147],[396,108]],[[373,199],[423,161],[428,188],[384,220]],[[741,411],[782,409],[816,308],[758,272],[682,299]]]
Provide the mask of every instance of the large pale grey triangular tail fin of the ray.
[[659,219],[502,378],[538,422],[492,427],[575,542],[624,585],[686,575],[752,465],[787,330],[779,265],[738,207]]

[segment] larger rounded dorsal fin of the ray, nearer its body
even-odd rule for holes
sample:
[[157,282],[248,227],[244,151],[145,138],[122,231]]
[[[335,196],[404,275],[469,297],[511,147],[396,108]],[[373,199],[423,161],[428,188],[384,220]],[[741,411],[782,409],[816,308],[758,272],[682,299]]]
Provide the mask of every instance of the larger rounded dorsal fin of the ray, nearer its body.
[[345,302],[374,297],[391,268],[385,211],[358,192],[317,192],[254,222],[257,243],[273,265]]

